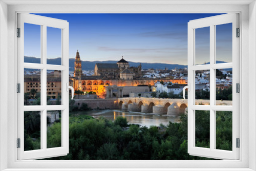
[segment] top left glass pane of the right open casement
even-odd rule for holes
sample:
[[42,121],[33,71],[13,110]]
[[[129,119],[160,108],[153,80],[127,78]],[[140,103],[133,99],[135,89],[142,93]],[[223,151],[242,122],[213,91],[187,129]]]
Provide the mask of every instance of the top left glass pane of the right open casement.
[[210,61],[210,27],[195,29],[196,65],[209,64]]

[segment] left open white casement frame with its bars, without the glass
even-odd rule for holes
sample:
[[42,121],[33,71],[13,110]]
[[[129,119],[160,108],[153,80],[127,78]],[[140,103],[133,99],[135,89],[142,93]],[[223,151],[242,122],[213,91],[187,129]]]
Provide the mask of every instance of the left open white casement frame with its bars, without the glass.
[[[24,61],[25,23],[40,26],[40,63]],[[58,28],[61,31],[61,65],[47,64],[47,27]],[[17,28],[20,28],[20,37],[17,38],[17,83],[20,83],[20,93],[17,94],[17,138],[20,139],[20,147],[17,148],[17,159],[41,159],[67,155],[69,153],[69,23],[61,19],[18,13]],[[41,71],[40,105],[24,105],[24,68],[40,69]],[[62,100],[60,105],[47,105],[47,70],[61,71]],[[41,115],[41,147],[37,150],[24,151],[24,112],[30,111],[39,111]],[[47,148],[47,111],[61,111],[60,147]]]

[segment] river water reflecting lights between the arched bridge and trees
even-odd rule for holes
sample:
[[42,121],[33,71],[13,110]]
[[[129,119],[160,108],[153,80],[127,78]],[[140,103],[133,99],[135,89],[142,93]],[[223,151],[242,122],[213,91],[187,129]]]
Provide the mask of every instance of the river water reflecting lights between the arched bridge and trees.
[[167,116],[167,115],[146,115],[143,113],[134,112],[121,112],[117,110],[100,110],[89,112],[78,112],[78,115],[90,115],[94,118],[103,116],[109,120],[115,120],[118,116],[126,118],[129,124],[139,124],[141,126],[150,127],[151,125],[159,126],[168,125],[170,122],[180,122],[179,117]]

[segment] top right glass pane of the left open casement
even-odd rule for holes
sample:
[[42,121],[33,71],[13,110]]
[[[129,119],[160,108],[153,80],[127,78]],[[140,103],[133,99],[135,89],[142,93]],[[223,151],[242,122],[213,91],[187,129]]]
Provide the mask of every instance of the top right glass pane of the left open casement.
[[47,64],[61,65],[61,29],[47,27]]

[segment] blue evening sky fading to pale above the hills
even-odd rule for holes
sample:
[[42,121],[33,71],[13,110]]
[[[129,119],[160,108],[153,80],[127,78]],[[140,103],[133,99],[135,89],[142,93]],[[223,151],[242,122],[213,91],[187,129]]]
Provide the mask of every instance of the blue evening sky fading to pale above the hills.
[[[70,58],[187,65],[187,23],[220,14],[36,14],[69,22]],[[217,26],[217,60],[231,62],[232,24]],[[25,24],[25,56],[40,57],[40,26]],[[61,31],[47,28],[47,57],[61,55]],[[196,64],[209,61],[209,28],[196,29]]]

